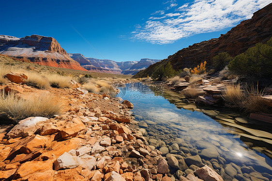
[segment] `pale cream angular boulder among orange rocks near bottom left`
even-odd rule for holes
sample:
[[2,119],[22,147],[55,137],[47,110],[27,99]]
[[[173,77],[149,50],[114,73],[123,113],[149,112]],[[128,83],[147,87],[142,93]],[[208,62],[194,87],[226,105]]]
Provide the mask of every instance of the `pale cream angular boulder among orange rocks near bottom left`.
[[73,156],[67,152],[64,152],[60,157],[54,162],[54,170],[59,170],[61,168],[75,168],[79,165],[79,158]]

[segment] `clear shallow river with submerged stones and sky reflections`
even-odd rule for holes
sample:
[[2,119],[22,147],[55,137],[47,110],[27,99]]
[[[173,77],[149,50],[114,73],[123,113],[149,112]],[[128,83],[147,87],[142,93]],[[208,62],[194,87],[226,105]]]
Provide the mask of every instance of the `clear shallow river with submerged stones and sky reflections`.
[[187,103],[181,94],[158,86],[138,82],[119,89],[117,96],[134,105],[135,120],[151,149],[162,151],[166,160],[179,160],[179,167],[169,167],[175,178],[205,164],[225,181],[272,181],[271,125],[239,112]]

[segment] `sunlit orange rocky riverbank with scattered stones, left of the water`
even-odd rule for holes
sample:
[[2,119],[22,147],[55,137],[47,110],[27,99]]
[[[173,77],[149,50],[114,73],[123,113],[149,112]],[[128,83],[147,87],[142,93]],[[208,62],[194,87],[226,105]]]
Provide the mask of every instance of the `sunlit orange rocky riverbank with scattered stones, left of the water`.
[[24,99],[46,93],[63,103],[63,114],[54,118],[0,125],[1,181],[222,181],[204,164],[172,175],[169,168],[181,158],[167,163],[163,150],[148,146],[129,101],[88,93],[77,84],[74,89],[37,90],[10,82],[1,89]]

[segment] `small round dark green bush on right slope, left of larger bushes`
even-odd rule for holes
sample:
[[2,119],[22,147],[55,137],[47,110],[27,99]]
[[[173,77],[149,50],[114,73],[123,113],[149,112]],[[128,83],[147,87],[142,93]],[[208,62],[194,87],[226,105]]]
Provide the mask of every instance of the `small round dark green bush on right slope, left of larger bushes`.
[[232,60],[232,57],[227,52],[219,53],[218,55],[213,57],[213,66],[215,71],[220,71],[224,69]]

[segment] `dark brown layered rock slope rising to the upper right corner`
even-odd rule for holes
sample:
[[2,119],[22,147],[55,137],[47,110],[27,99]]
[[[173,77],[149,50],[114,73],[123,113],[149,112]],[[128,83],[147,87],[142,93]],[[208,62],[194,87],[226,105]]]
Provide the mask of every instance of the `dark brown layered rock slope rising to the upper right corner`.
[[167,59],[138,72],[135,77],[151,75],[155,66],[163,65],[168,61],[171,62],[176,70],[185,67],[196,67],[204,60],[207,61],[207,66],[211,66],[212,58],[221,52],[227,52],[230,56],[235,57],[259,42],[264,43],[272,36],[271,9],[272,3],[255,12],[251,19],[242,21],[219,38],[183,48]]

